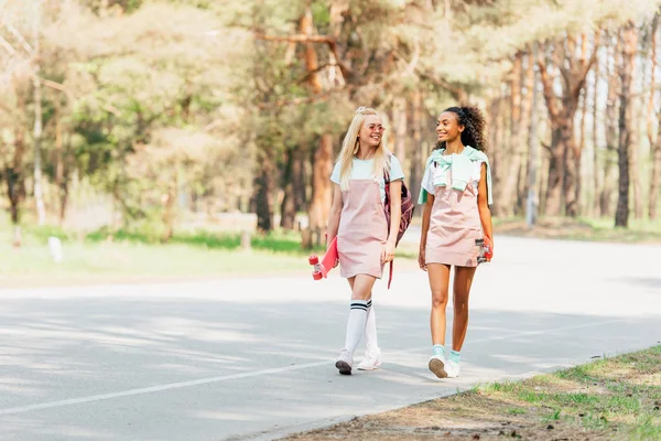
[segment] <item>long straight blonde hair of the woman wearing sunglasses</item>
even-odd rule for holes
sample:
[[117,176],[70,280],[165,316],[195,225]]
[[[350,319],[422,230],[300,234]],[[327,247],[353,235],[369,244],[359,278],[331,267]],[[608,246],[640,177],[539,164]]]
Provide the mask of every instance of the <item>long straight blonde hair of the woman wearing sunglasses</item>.
[[[365,123],[368,116],[375,115],[380,118],[379,112],[369,107],[359,107],[351,119],[351,123],[347,130],[347,135],[342,143],[342,150],[339,151],[339,187],[343,191],[349,190],[349,176],[351,175],[351,169],[354,168],[354,158],[360,149],[360,142],[358,140],[358,133]],[[390,174],[390,151],[386,148],[383,137],[381,142],[377,146],[373,157],[372,174],[376,178],[381,178],[383,174]]]

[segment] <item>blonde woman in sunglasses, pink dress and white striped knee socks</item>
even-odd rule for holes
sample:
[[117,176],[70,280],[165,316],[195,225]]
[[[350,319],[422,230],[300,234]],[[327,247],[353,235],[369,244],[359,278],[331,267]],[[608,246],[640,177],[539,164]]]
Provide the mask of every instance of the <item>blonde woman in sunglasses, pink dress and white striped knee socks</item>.
[[[383,266],[394,257],[404,179],[399,161],[383,146],[384,130],[375,109],[360,107],[330,175],[333,205],[327,245],[337,236],[340,276],[351,287],[345,347],[335,363],[343,375],[351,374],[354,352],[364,334],[367,351],[358,368],[371,370],[381,364],[371,291]],[[386,185],[391,197],[390,226],[383,213]]]

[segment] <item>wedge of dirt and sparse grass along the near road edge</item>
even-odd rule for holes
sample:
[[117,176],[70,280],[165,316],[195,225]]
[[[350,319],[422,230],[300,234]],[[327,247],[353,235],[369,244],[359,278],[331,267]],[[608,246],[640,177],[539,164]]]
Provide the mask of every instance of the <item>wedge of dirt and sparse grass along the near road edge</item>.
[[654,346],[283,440],[651,440],[661,439],[660,404],[661,346]]

